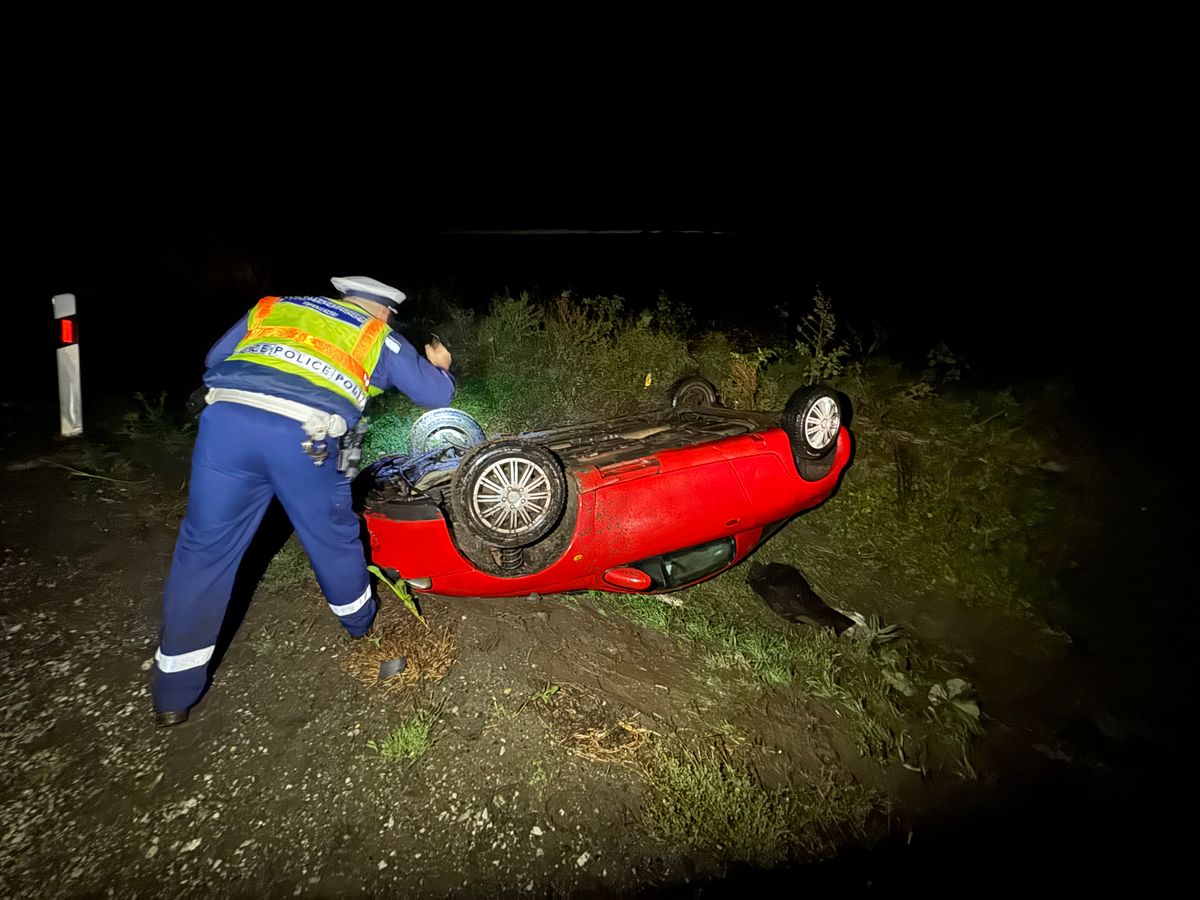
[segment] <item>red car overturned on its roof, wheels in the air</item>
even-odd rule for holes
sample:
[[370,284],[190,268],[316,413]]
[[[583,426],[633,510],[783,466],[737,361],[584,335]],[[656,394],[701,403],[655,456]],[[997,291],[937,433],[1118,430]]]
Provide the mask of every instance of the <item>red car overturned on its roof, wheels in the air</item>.
[[371,560],[418,593],[658,593],[736,565],[823,503],[853,455],[822,385],[782,413],[728,409],[685,378],[659,410],[485,438],[436,409],[410,451],[355,480]]

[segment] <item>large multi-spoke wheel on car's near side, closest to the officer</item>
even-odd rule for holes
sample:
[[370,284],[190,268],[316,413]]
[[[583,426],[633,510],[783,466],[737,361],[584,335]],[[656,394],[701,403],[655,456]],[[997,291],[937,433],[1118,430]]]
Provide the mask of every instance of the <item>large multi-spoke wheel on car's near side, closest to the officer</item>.
[[550,450],[528,440],[480,444],[451,485],[455,522],[494,547],[524,547],[553,530],[566,506],[566,476]]

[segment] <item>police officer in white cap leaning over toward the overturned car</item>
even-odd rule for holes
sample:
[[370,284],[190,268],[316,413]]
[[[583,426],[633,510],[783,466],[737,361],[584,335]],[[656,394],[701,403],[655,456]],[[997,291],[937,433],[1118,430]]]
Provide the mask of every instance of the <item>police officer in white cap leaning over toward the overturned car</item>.
[[272,497],[350,636],[374,620],[350,482],[337,470],[338,438],[354,434],[370,396],[395,388],[419,406],[443,407],[455,380],[445,347],[425,344],[421,356],[389,328],[401,290],[359,275],[332,283],[336,299],[263,298],[205,359],[208,406],[155,654],[160,726],[186,721],[208,688],[238,565]]

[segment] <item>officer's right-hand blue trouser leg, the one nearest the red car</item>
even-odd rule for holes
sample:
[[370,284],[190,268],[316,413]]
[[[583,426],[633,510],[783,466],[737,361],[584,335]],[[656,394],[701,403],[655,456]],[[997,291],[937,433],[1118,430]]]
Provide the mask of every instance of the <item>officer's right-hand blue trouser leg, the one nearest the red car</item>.
[[350,482],[329,461],[313,466],[299,448],[275,461],[271,485],[304,545],[317,583],[342,626],[354,637],[374,620],[376,598],[367,576],[359,517],[350,502]]

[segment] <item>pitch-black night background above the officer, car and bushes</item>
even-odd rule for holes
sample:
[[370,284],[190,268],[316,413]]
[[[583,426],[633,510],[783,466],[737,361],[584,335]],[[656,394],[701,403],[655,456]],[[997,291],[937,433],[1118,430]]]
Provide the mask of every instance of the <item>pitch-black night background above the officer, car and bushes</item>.
[[[92,397],[194,384],[264,287],[364,274],[479,306],[666,290],[760,328],[820,286],[916,361],[944,341],[989,384],[1171,409],[1192,210],[1169,19],[322,20],[287,46],[227,17],[49,24],[7,56],[5,396],[53,392],[54,293],[79,296]],[[520,228],[662,234],[443,234]]]

